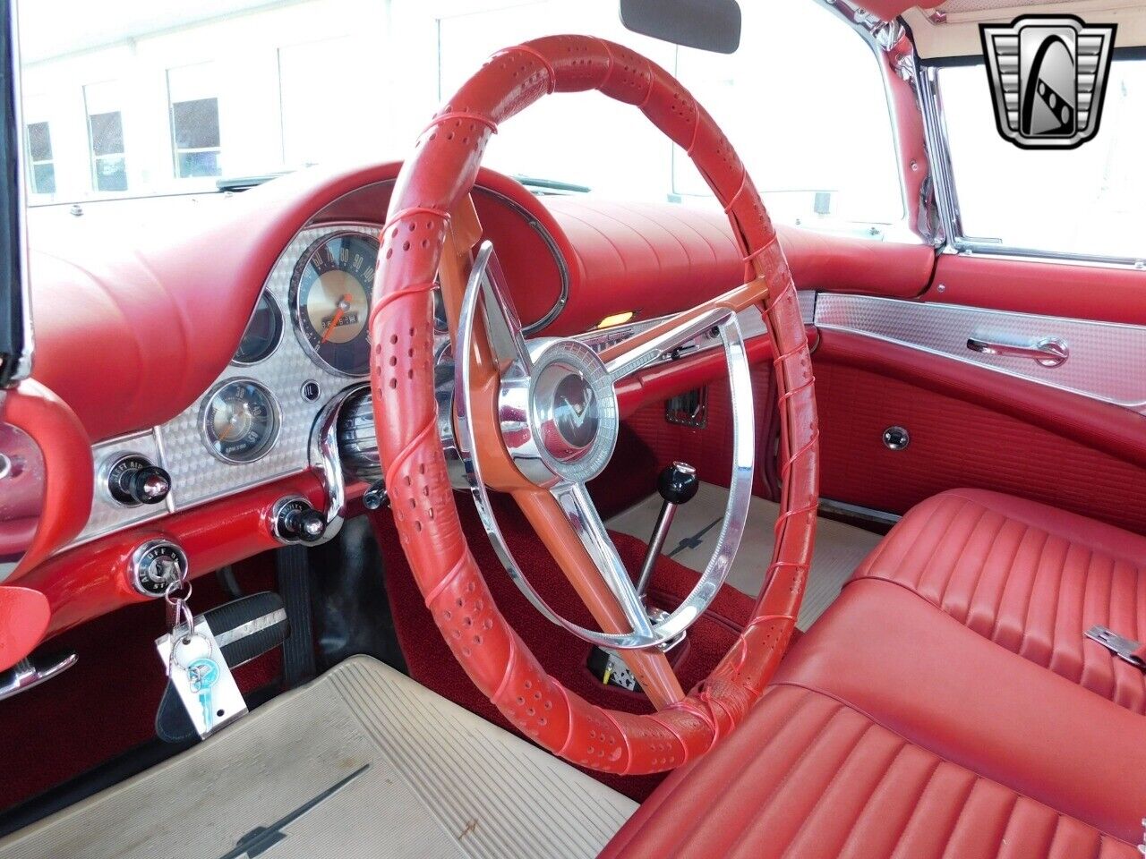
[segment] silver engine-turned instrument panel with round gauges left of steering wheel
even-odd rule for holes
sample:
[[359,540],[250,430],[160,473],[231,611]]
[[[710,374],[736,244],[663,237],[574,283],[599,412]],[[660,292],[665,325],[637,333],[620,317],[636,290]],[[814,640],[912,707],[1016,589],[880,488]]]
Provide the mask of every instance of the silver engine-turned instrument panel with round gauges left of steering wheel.
[[97,473],[125,451],[165,468],[165,503],[125,506],[97,488],[72,545],[306,470],[323,407],[370,371],[377,251],[374,226],[298,233],[270,270],[230,364],[203,396],[162,426],[93,449]]

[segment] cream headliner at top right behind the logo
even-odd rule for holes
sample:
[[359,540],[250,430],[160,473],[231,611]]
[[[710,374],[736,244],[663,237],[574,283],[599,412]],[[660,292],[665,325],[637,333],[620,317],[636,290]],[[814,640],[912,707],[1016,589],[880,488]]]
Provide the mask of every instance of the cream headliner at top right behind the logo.
[[[929,60],[982,56],[979,24],[1006,23],[1020,15],[1076,15],[1093,24],[1117,24],[1116,48],[1146,45],[1146,3],[1141,0],[947,0],[933,10],[908,9],[903,19],[919,56]],[[940,17],[945,18],[943,23],[935,23]]]

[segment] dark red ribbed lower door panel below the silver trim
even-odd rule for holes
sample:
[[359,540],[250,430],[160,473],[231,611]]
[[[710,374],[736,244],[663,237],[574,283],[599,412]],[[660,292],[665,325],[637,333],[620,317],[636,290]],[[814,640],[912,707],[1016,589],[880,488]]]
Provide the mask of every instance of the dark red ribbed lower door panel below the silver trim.
[[[825,498],[902,513],[944,489],[975,487],[1146,531],[1146,470],[1059,433],[837,362],[823,348],[816,399]],[[905,449],[884,446],[888,426],[908,430]]]

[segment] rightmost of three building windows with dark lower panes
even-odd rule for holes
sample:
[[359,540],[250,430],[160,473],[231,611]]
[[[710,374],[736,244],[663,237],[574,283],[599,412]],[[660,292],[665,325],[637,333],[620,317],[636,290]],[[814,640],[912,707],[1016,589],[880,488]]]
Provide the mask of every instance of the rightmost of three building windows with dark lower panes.
[[175,176],[218,176],[219,98],[207,64],[167,70]]

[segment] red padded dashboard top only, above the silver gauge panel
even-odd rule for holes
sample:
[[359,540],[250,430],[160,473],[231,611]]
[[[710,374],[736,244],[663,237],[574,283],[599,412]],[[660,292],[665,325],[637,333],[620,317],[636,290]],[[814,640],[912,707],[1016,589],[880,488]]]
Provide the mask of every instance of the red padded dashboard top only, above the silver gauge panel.
[[[313,222],[378,221],[399,166],[303,171],[83,252],[33,244],[34,378],[93,442],[168,420],[227,365],[290,238]],[[716,207],[539,199],[486,170],[478,183],[479,215],[524,320],[554,306],[566,269],[567,304],[545,333],[581,332],[626,310],[661,316],[740,283]],[[779,234],[801,289],[913,297],[934,265],[924,245]]]

